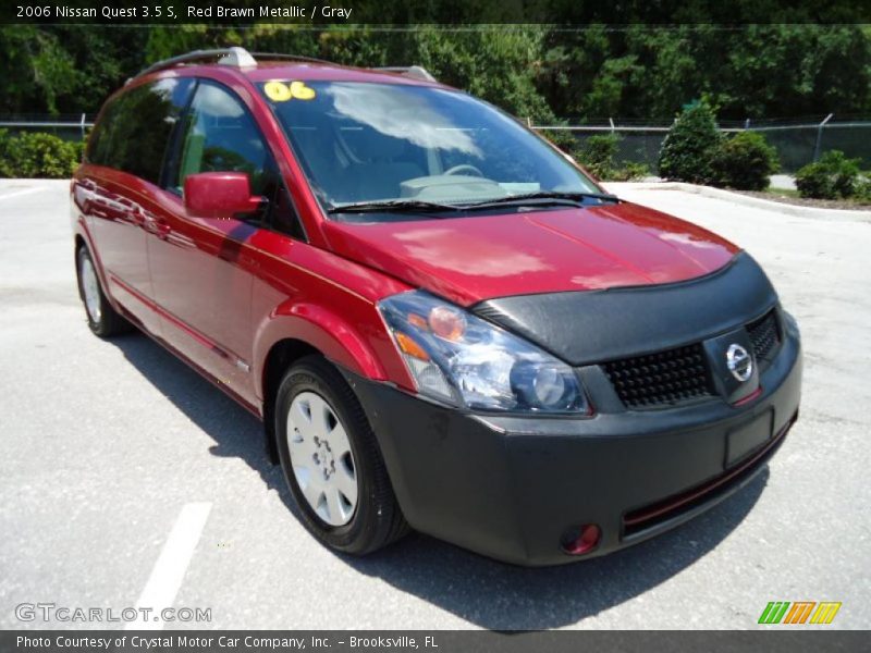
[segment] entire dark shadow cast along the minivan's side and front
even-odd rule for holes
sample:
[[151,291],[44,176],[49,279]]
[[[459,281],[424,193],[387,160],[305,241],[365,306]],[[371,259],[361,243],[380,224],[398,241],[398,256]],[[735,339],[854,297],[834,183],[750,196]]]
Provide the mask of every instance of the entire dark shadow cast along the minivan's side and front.
[[[267,456],[256,418],[148,337],[136,334],[112,343],[214,441],[212,455],[244,460],[299,518],[281,468]],[[561,567],[515,567],[417,533],[365,558],[336,556],[358,572],[380,578],[475,626],[559,628],[638,596],[704,557],[744,520],[768,478],[765,468],[709,513],[659,538]]]

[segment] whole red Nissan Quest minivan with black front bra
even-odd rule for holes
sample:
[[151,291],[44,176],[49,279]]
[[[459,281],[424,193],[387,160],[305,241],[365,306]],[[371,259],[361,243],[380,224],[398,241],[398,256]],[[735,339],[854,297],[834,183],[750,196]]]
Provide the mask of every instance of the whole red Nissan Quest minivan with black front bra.
[[602,555],[745,485],[798,416],[750,256],[417,66],[156,64],[103,107],[72,221],[94,333],[137,326],[260,417],[341,552]]

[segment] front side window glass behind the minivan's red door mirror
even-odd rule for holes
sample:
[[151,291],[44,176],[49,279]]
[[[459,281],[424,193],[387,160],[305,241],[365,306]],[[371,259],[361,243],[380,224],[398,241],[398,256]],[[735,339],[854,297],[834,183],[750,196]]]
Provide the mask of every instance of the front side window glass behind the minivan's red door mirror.
[[260,130],[231,91],[209,82],[199,83],[185,114],[184,137],[175,158],[170,186],[176,192],[184,187],[189,174],[246,172],[252,193],[267,199],[265,210],[249,220],[304,238],[290,194]]

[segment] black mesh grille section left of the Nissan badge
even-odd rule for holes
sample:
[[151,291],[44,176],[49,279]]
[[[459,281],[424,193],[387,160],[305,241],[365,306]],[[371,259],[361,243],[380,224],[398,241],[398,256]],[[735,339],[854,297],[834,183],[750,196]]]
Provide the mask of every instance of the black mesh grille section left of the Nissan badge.
[[701,344],[604,364],[617,396],[629,408],[683,404],[713,394]]

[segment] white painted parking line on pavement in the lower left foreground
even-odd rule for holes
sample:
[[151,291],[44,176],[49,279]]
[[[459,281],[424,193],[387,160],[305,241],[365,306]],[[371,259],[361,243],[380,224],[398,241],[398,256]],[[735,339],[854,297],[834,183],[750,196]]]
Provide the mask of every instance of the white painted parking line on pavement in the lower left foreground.
[[189,503],[185,504],[175,525],[170,531],[170,537],[163,544],[160,557],[157,558],[151,576],[145,583],[136,608],[148,608],[151,611],[149,619],[144,618],[139,609],[139,617],[135,621],[127,621],[125,630],[161,630],[163,620],[160,612],[167,607],[172,607],[175,594],[182,587],[187,565],[194,555],[194,550],[199,542],[199,535],[206,526],[211,510],[210,503]]

